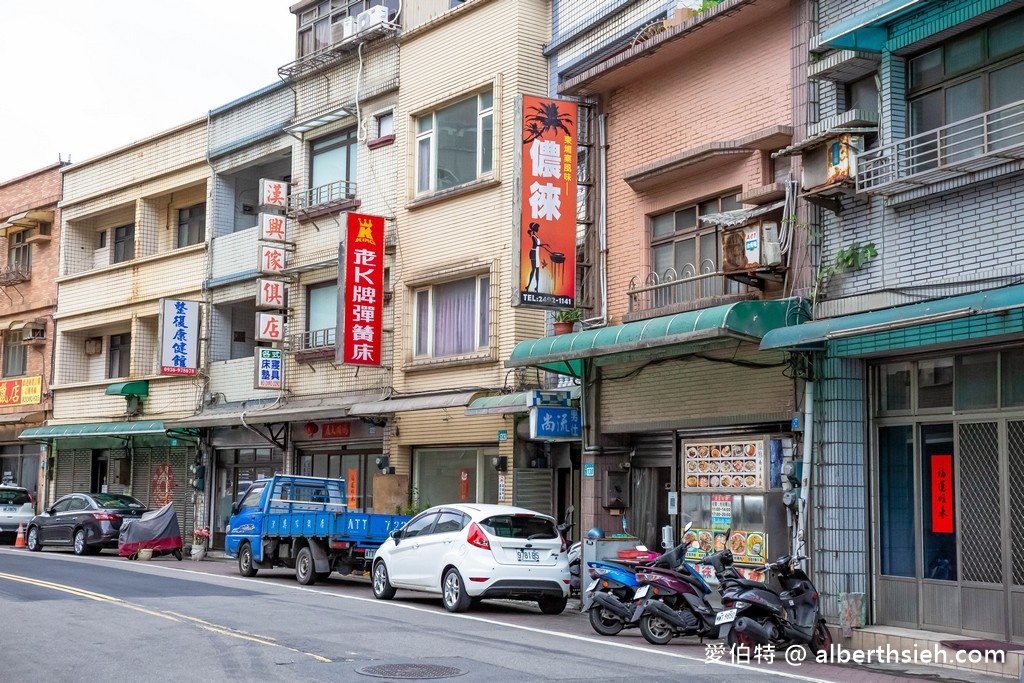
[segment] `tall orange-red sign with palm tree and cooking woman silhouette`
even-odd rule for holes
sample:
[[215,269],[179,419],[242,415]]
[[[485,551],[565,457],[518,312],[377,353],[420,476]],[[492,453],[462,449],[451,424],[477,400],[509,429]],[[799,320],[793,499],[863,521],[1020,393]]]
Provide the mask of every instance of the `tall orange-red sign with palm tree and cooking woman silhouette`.
[[577,105],[522,95],[517,304],[575,304]]

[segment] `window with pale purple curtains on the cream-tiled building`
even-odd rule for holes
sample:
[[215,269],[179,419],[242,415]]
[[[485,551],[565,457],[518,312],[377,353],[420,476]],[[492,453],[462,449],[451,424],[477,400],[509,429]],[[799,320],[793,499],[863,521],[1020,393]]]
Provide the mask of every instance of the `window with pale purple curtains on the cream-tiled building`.
[[415,291],[415,354],[475,353],[490,343],[490,278],[477,275]]

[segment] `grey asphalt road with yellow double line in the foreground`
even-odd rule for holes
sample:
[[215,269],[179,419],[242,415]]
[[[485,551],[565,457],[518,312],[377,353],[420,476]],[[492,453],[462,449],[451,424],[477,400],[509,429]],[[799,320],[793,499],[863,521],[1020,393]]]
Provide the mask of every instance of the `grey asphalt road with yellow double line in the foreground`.
[[813,663],[709,661],[695,642],[654,647],[637,631],[601,638],[579,611],[551,616],[485,601],[451,614],[417,593],[375,600],[362,579],[302,587],[286,570],[243,579],[226,561],[129,562],[112,551],[0,548],[0,680],[24,683],[921,680]]

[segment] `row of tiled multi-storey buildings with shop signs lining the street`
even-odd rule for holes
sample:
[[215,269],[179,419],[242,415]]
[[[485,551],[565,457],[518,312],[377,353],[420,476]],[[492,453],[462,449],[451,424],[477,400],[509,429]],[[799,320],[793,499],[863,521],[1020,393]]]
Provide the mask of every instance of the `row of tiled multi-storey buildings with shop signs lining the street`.
[[276,82],[0,183],[5,478],[214,546],[274,472],[690,523],[854,642],[1024,642],[1024,2],[291,12]]

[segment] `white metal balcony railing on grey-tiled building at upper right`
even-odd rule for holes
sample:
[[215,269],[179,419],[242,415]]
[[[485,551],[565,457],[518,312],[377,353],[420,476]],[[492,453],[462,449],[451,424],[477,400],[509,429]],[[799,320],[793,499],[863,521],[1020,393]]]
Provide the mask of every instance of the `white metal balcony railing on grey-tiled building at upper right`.
[[871,150],[857,191],[895,195],[1024,159],[1024,100]]

